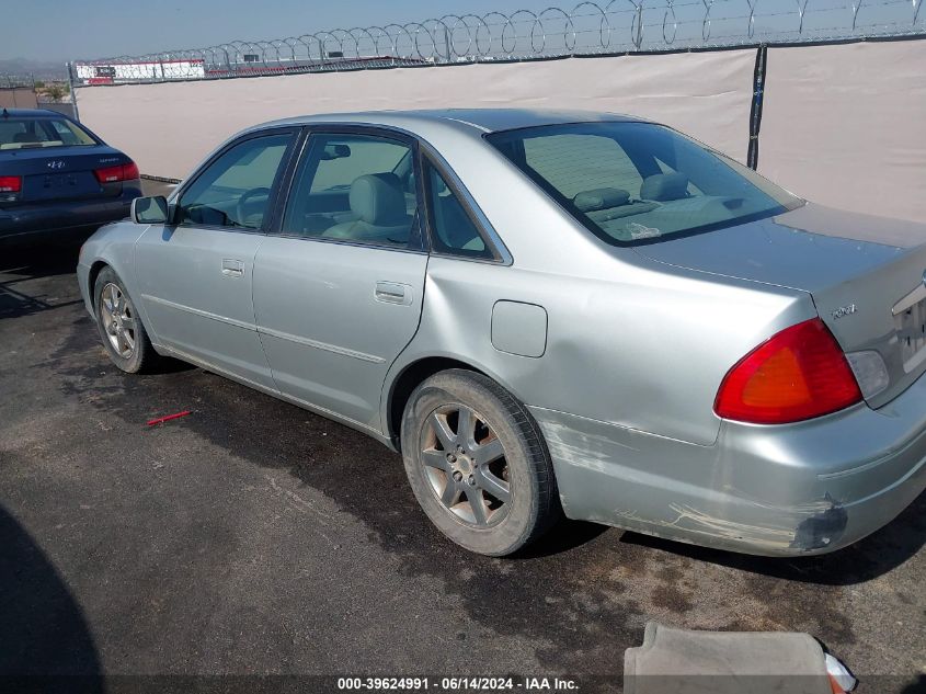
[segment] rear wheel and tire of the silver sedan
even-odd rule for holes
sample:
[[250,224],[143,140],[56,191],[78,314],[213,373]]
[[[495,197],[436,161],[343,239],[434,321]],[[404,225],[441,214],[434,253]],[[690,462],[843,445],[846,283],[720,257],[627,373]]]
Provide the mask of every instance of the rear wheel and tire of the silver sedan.
[[405,406],[401,444],[421,508],[466,549],[510,555],[562,513],[537,422],[481,374],[449,369],[424,380]]

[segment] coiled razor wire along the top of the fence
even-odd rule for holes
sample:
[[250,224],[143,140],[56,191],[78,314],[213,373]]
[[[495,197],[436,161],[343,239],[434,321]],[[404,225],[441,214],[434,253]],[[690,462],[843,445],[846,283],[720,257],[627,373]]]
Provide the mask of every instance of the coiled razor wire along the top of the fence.
[[610,0],[69,62],[76,84],[225,79],[926,34],[923,0]]

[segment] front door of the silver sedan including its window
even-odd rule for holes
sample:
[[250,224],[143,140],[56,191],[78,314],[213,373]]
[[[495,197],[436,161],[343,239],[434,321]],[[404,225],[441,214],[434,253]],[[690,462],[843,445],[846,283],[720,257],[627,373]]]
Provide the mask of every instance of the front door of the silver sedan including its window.
[[136,243],[141,302],[158,343],[271,389],[254,321],[254,255],[297,136],[272,130],[229,145],[180,191],[172,224],[148,227]]

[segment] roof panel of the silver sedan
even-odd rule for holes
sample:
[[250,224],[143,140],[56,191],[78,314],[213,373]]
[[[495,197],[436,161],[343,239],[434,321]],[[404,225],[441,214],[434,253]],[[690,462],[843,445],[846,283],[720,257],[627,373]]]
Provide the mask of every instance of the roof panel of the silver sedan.
[[599,111],[557,111],[548,109],[439,109],[422,111],[362,111],[305,115],[264,123],[268,125],[309,125],[312,123],[357,123],[401,127],[411,132],[422,123],[462,125],[479,133],[498,133],[541,125],[587,123],[594,121],[637,122],[640,118]]

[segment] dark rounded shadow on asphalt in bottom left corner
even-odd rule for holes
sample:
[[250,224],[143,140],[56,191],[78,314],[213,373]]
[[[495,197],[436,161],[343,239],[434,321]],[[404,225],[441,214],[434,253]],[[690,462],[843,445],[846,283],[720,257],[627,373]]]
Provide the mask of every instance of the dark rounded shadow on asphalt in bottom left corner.
[[73,678],[71,685],[82,693],[103,692],[100,658],[80,605],[52,560],[2,508],[0,546],[0,678],[11,687],[5,691],[62,691],[66,682],[58,680]]

